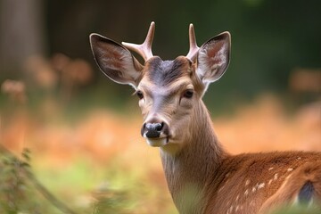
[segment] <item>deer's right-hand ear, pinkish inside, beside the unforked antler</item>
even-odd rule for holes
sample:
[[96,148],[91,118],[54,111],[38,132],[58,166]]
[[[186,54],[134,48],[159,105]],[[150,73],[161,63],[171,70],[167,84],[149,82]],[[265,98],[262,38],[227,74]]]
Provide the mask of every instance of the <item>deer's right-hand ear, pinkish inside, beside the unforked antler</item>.
[[231,36],[228,32],[212,37],[204,43],[197,56],[197,76],[205,88],[222,77],[230,59]]

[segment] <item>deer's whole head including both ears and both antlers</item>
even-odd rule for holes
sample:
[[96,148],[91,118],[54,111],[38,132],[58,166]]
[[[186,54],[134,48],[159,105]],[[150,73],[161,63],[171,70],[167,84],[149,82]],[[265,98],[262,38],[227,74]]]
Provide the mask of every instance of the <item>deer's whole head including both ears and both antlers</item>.
[[[153,56],[154,23],[142,45],[118,43],[96,34],[92,50],[103,73],[113,81],[136,89],[144,123],[141,134],[152,146],[182,146],[189,127],[197,123],[195,108],[210,82],[220,78],[229,62],[230,35],[222,33],[199,48],[190,26],[190,52],[174,61]],[[144,57],[140,64],[128,49]]]

